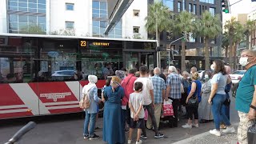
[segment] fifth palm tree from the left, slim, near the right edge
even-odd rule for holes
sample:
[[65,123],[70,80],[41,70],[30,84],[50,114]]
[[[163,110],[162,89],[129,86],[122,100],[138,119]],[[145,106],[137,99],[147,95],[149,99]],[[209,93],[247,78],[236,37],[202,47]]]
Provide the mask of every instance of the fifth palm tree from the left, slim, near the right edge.
[[245,28],[242,26],[242,24],[240,24],[239,22],[236,22],[234,25],[234,70],[236,70],[237,67],[237,62],[238,62],[238,58],[237,58],[237,47],[238,44],[242,41],[242,39],[244,39],[245,37]]

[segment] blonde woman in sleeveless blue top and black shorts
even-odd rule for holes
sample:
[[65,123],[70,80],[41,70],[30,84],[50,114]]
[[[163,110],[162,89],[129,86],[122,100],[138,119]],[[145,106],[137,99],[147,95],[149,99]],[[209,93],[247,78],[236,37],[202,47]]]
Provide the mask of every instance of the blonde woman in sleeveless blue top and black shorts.
[[190,92],[186,98],[187,103],[187,123],[183,128],[192,128],[192,120],[194,115],[194,126],[198,127],[198,96],[201,93],[201,82],[198,80],[199,74],[192,73],[192,84]]

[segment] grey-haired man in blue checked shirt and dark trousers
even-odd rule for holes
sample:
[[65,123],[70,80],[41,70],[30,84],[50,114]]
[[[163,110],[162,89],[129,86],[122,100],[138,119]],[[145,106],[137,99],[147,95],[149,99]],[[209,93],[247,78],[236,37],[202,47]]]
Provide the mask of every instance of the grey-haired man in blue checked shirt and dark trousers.
[[182,91],[181,91],[181,78],[177,74],[177,70],[174,66],[169,66],[170,74],[166,80],[166,100],[170,98],[173,101],[174,107],[174,123],[173,126],[178,126],[178,105],[179,99],[182,98]]

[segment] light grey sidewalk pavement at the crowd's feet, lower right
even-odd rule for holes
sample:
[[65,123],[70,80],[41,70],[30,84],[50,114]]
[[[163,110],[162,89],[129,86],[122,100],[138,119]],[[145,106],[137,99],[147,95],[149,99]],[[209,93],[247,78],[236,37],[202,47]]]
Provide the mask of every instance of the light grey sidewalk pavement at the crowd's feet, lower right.
[[[235,130],[238,130],[238,123],[233,125]],[[223,134],[217,137],[210,132],[195,135],[182,141],[174,142],[173,144],[237,144],[237,131],[234,134]]]

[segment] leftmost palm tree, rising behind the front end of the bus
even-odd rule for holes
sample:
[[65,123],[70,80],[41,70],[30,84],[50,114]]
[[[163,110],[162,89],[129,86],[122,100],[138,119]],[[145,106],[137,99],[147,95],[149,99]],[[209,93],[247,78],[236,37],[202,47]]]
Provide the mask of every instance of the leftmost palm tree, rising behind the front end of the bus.
[[163,6],[162,2],[154,2],[150,5],[146,20],[146,30],[150,34],[156,34],[157,45],[160,46],[160,34],[162,31],[170,28],[171,13],[167,6]]

